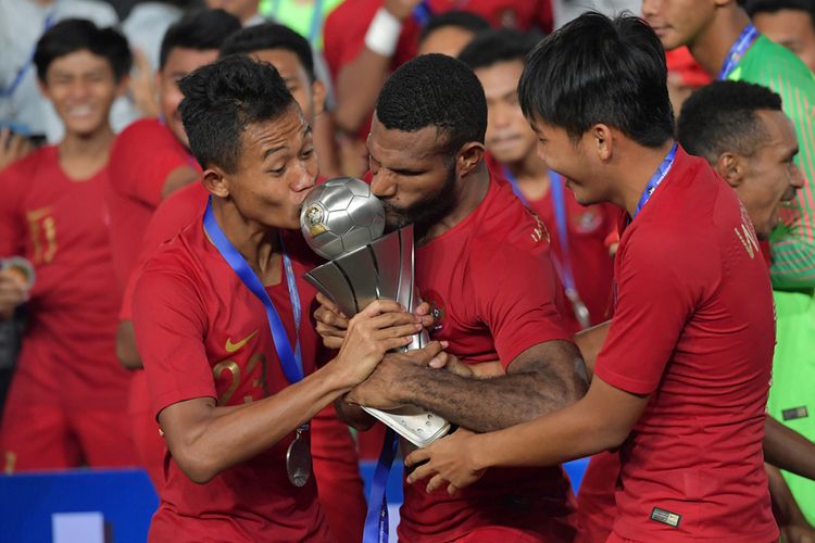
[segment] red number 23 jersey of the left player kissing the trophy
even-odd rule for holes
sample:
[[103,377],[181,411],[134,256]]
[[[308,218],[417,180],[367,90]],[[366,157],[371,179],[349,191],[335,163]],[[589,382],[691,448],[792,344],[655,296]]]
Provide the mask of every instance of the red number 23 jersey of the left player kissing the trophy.
[[[313,257],[302,240],[289,235],[285,239],[303,304],[300,345],[303,368],[310,374],[322,343],[309,320],[315,292],[301,277]],[[266,291],[291,341],[294,323],[281,275],[280,282]],[[193,397],[241,405],[289,384],[263,303],[208,240],[201,220],[145,263],[133,316],[156,415]],[[167,453],[166,484],[150,540],[328,541],[314,478],[297,488],[286,475],[286,450],[292,439],[293,432],[205,484],[190,481]]]

